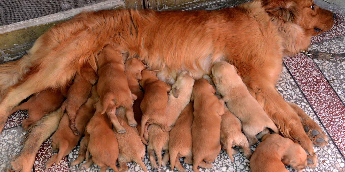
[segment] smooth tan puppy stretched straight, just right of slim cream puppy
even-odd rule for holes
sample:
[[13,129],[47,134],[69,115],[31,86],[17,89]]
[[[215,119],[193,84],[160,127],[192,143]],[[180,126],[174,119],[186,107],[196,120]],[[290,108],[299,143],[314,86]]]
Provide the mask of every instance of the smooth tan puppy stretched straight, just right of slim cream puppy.
[[[216,90],[205,79],[196,80],[191,101],[194,101],[192,125],[193,170],[198,166],[212,168],[220,147],[220,122],[224,114],[224,101],[214,94]],[[205,161],[205,162],[204,162]]]

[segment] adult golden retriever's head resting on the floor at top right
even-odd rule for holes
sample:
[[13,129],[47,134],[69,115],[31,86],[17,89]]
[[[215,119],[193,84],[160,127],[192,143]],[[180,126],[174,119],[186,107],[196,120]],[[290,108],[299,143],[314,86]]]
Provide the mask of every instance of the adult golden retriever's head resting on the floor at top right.
[[284,22],[301,26],[310,35],[332,28],[335,13],[315,5],[313,0],[262,0],[266,12]]

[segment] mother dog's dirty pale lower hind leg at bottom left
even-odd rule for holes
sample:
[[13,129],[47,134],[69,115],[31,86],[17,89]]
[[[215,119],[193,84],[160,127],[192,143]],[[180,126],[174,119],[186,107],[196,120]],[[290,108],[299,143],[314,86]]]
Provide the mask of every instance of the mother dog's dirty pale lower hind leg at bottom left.
[[42,143],[58,129],[60,117],[61,113],[58,109],[47,114],[29,128],[22,150],[10,161],[10,169],[21,172],[31,171],[36,153]]

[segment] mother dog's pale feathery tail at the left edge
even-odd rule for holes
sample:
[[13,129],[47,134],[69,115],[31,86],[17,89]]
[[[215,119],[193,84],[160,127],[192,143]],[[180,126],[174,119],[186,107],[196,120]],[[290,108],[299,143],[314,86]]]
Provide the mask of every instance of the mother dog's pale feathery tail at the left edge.
[[30,55],[26,54],[17,61],[0,65],[0,97],[12,85],[17,84],[29,71]]

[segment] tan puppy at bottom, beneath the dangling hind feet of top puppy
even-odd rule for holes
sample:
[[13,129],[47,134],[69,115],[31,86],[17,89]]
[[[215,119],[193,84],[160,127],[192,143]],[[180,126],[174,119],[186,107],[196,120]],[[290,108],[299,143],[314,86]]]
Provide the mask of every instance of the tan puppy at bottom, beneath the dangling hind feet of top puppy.
[[119,171],[127,171],[127,162],[135,161],[142,170],[147,172],[145,164],[142,162],[146,153],[145,145],[140,140],[138,130],[127,124],[125,109],[123,107],[118,108],[116,114],[120,124],[126,129],[126,133],[123,134],[114,132],[120,150],[119,157],[117,159],[120,166]]

